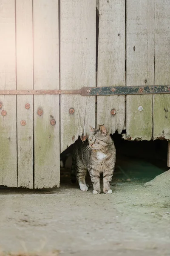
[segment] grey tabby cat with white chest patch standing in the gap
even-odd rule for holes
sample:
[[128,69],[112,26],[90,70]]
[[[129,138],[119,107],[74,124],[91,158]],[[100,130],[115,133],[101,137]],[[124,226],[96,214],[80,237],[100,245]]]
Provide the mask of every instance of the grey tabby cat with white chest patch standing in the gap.
[[93,183],[93,194],[99,194],[100,174],[103,174],[103,192],[111,194],[110,183],[116,162],[116,149],[104,125],[96,130],[91,127],[88,142],[76,145],[73,154],[73,167],[76,170],[77,180],[82,191],[87,191],[85,183],[87,170]]

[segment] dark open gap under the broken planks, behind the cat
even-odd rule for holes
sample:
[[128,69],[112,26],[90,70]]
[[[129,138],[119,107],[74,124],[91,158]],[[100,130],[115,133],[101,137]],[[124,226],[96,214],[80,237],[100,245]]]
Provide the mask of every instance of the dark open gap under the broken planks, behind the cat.
[[[127,141],[117,132],[111,135],[116,146],[116,166],[112,185],[121,183],[145,183],[168,170],[167,141]],[[61,154],[61,184],[77,186],[71,183],[71,152],[73,145]],[[87,175],[87,183],[91,184]]]

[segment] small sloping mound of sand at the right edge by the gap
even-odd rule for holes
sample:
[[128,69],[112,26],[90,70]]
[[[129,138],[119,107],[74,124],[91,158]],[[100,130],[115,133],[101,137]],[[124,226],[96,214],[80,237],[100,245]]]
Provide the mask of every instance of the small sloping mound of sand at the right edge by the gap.
[[144,186],[155,186],[170,189],[170,170],[156,176],[153,180],[145,183]]

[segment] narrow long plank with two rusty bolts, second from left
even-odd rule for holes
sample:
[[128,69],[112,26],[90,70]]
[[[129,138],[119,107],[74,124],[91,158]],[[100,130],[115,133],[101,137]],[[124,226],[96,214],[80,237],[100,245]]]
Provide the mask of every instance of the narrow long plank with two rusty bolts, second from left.
[[[32,0],[16,0],[17,90],[33,89]],[[25,105],[30,108],[26,109]],[[26,125],[21,125],[21,121]],[[18,186],[33,188],[33,96],[17,96]]]

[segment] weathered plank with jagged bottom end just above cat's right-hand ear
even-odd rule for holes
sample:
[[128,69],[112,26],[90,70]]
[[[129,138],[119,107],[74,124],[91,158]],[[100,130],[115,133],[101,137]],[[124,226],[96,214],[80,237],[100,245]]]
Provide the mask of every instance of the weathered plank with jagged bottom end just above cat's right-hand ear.
[[[125,86],[125,1],[100,0],[99,6],[97,86]],[[97,96],[97,124],[120,134],[124,123],[125,96]]]

